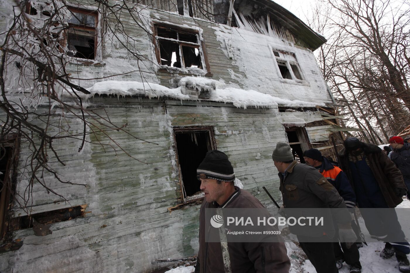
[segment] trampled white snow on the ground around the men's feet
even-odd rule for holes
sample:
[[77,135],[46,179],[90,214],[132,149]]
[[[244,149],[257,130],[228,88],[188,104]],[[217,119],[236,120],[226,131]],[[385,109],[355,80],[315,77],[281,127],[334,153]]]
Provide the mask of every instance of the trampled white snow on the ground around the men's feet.
[[[398,208],[410,208],[410,201],[404,199],[403,202],[397,206]],[[363,221],[362,218],[359,219]],[[364,226],[361,223],[360,226]],[[362,273],[398,273],[399,268],[397,265],[396,257],[393,256],[390,259],[384,260],[380,258],[380,251],[384,248],[384,243],[367,243],[368,246],[359,248],[360,263],[362,264]],[[287,253],[291,259],[291,268],[289,273],[315,273],[312,263],[309,260],[303,260],[303,250],[298,248],[294,243],[286,243]],[[194,266],[180,266],[173,268],[166,273],[191,273],[194,272]],[[349,273],[349,266],[344,263],[343,267],[339,270],[339,273]]]

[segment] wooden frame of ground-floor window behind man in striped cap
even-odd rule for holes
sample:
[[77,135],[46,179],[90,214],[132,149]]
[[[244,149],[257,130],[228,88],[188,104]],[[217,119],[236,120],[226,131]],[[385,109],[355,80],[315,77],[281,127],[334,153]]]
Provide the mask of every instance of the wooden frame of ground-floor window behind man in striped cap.
[[182,204],[188,204],[188,203],[194,203],[198,200],[202,200],[204,197],[199,197],[199,198],[194,198],[194,199],[188,199],[189,196],[184,197],[184,182],[182,181],[182,171],[181,171],[181,166],[179,163],[178,159],[178,148],[177,148],[177,143],[176,143],[176,134],[184,134],[184,133],[194,133],[194,132],[207,132],[209,136],[210,143],[207,143],[208,146],[208,151],[210,150],[216,150],[216,141],[215,141],[215,132],[214,132],[214,127],[212,126],[195,126],[195,127],[173,127],[173,138],[174,138],[174,147],[175,147],[175,159],[177,162],[178,166],[178,173],[179,173],[179,185],[181,189],[181,194],[180,194],[180,199],[182,200]]

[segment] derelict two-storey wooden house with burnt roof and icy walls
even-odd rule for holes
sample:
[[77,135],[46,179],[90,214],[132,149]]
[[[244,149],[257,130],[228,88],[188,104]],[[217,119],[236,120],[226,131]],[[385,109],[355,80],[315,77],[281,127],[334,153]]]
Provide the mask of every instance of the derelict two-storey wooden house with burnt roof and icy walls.
[[[22,12],[47,20],[55,2],[27,2]],[[303,150],[331,151],[333,133],[346,130],[313,55],[326,39],[275,2],[132,1],[137,16],[98,2],[66,1],[65,67],[91,93],[83,96],[87,141],[81,152],[81,140],[53,144],[65,165],[48,155],[64,180],[87,186],[45,172],[44,184],[68,201],[34,183],[25,203],[30,147],[9,141],[0,168],[13,186],[0,199],[1,272],[152,272],[169,265],[157,259],[195,255],[203,199],[196,167],[208,150],[225,152],[237,184],[271,207],[262,187],[280,199],[276,143],[289,142],[303,162]],[[121,33],[104,25],[117,19]],[[57,122],[61,110],[52,111]],[[81,134],[70,115],[70,131]],[[32,122],[42,126],[41,118]],[[99,133],[107,119],[123,130]]]

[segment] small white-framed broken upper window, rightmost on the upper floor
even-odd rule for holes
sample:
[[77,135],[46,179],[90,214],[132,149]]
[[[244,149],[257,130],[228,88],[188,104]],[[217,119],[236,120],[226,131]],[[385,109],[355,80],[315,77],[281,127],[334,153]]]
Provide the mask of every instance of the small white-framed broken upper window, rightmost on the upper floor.
[[291,52],[273,50],[273,55],[278,64],[280,75],[283,79],[303,80],[296,56]]

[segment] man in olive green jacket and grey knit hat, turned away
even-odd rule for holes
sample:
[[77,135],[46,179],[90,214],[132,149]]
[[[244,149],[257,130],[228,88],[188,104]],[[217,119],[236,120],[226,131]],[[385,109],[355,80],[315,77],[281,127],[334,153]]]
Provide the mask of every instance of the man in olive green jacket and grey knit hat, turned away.
[[[291,209],[292,216],[297,212],[303,214],[301,208],[322,209],[326,214],[325,219],[330,223],[333,223],[330,221],[333,215],[339,227],[340,241],[346,242],[350,247],[351,243],[356,241],[355,233],[351,229],[351,215],[335,187],[312,166],[295,161],[292,149],[287,143],[277,144],[272,159],[279,171],[280,191],[285,209]],[[332,214],[329,208],[335,209]],[[287,215],[289,216],[291,215]],[[292,226],[289,229],[297,235],[303,251],[317,273],[338,272],[333,253],[333,224],[326,225],[325,230],[313,226]]]

